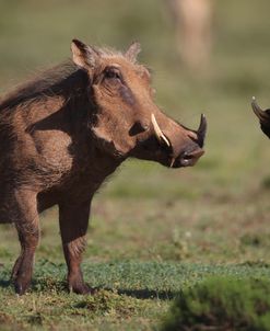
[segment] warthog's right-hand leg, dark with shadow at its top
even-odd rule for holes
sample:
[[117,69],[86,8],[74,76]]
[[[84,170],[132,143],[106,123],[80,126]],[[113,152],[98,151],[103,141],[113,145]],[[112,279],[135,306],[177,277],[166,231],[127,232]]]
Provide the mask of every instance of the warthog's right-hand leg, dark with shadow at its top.
[[60,204],[59,221],[63,253],[68,266],[70,292],[89,294],[91,288],[84,283],[80,267],[89,226],[90,201],[81,204]]

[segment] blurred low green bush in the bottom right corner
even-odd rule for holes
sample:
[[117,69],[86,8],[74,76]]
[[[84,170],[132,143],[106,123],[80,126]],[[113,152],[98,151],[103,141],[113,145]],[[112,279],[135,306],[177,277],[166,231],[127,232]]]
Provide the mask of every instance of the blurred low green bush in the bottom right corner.
[[167,315],[163,331],[270,329],[268,278],[210,277],[183,290]]

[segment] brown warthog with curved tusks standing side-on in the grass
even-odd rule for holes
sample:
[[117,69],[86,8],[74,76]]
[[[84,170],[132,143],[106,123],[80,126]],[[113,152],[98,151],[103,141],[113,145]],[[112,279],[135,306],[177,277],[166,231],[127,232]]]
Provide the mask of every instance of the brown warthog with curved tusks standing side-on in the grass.
[[148,69],[125,53],[74,39],[73,61],[33,79],[0,103],[0,215],[14,222],[22,251],[12,279],[28,288],[39,239],[38,213],[59,206],[70,290],[90,293],[80,269],[96,190],[129,157],[193,166],[207,122],[190,130],[153,102]]

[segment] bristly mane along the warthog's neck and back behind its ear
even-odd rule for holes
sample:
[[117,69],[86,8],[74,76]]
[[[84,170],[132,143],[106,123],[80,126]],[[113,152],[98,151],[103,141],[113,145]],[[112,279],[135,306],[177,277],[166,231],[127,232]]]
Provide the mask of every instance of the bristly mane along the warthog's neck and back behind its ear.
[[19,105],[39,101],[43,98],[63,95],[72,98],[87,85],[87,75],[71,60],[40,72],[38,76],[20,84],[15,90],[0,100],[2,111],[12,111]]

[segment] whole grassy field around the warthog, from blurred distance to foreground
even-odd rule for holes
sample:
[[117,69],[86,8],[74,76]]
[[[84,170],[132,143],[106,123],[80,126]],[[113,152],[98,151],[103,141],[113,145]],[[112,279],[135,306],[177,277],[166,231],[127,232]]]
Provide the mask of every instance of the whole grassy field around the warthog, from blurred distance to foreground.
[[[84,255],[96,296],[69,295],[58,210],[40,216],[33,289],[13,294],[13,226],[0,227],[0,330],[153,330],[172,298],[209,275],[270,276],[270,142],[250,100],[270,106],[270,3],[215,1],[203,76],[179,61],[161,0],[0,0],[0,93],[70,56],[75,36],[125,48],[138,39],[156,102],[187,126],[209,122],[206,156],[167,170],[126,162],[95,196]],[[117,10],[116,10],[117,9]]]

